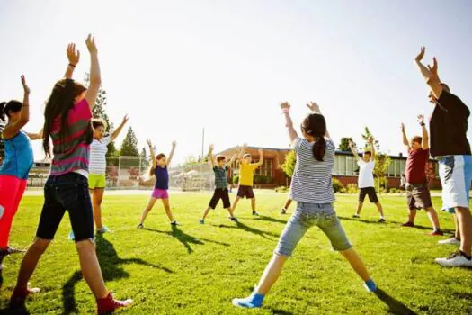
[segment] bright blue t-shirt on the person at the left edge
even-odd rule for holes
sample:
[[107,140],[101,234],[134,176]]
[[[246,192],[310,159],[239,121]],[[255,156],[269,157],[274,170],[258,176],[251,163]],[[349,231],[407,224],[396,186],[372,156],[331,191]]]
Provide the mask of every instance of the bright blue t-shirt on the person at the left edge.
[[0,175],[13,175],[28,179],[34,160],[30,138],[22,131],[11,139],[4,139],[4,163]]

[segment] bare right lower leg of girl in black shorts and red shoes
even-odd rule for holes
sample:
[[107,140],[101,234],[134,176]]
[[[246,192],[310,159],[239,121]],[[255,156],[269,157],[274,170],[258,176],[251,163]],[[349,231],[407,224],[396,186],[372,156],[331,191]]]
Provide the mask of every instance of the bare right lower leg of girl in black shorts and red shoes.
[[103,282],[102,270],[98,264],[94,242],[91,239],[81,240],[76,242],[76,248],[85,282],[96,299],[105,298],[108,291]]

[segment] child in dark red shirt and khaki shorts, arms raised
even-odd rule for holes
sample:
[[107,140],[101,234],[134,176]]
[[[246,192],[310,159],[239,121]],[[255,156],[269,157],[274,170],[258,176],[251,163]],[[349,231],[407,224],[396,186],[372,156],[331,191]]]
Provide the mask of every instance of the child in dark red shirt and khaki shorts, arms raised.
[[408,204],[408,220],[402,224],[404,227],[414,227],[414,218],[416,217],[416,210],[423,209],[428,213],[428,217],[432,223],[432,236],[443,235],[438,214],[434,211],[431,201],[431,193],[428,187],[428,180],[426,177],[426,163],[430,157],[430,140],[428,137],[428,130],[424,124],[424,116],[418,116],[418,123],[420,124],[423,136],[414,136],[408,140],[405,132],[405,125],[402,123],[402,138],[408,158],[405,166],[405,191],[406,202]]

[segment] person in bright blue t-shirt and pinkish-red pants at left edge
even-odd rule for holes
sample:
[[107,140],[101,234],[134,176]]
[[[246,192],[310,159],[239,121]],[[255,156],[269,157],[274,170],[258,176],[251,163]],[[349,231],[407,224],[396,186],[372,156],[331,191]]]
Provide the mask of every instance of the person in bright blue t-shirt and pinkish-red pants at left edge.
[[0,166],[0,275],[4,257],[22,252],[8,246],[13,218],[26,189],[33,164],[31,141],[22,131],[30,121],[30,88],[22,76],[23,102],[0,103],[0,121],[6,122],[1,137],[4,140],[4,161]]

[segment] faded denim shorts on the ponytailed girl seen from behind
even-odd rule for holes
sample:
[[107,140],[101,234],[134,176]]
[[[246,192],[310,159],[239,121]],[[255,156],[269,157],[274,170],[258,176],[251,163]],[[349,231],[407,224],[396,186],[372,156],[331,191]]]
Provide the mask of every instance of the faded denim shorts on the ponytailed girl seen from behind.
[[291,256],[300,239],[315,225],[329,238],[334,250],[342,251],[352,247],[332,203],[298,202],[297,210],[283,229],[274,253]]

